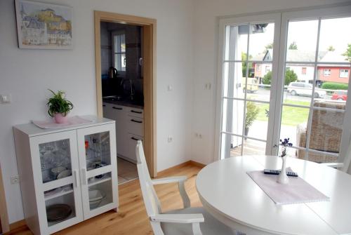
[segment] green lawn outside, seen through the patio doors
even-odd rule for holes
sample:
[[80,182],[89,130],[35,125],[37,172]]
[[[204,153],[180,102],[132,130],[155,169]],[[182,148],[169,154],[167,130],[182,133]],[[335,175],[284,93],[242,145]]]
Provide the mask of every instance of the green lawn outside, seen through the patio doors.
[[[286,104],[293,105],[305,105],[309,106],[310,102],[305,101],[295,101],[295,100],[285,100]],[[258,121],[268,121],[265,110],[269,109],[268,104],[260,104],[256,103],[260,108],[260,112],[258,112],[257,119]],[[282,114],[282,125],[287,126],[296,126],[300,123],[307,122],[309,109],[299,108],[299,107],[291,107],[291,106],[283,106],[283,114]]]

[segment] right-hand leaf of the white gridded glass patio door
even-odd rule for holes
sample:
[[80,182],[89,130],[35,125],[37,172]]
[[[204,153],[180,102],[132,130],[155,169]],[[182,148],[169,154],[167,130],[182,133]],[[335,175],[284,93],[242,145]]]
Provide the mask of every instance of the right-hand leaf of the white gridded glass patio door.
[[351,32],[344,30],[349,25],[347,9],[283,14],[279,75],[284,79],[277,89],[282,99],[275,128],[279,138],[291,139],[289,156],[343,161],[351,124]]

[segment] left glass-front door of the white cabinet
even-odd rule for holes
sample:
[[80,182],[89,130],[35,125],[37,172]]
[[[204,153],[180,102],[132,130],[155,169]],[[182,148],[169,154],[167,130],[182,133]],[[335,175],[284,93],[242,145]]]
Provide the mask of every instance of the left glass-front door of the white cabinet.
[[43,231],[83,220],[76,131],[32,137],[30,145]]

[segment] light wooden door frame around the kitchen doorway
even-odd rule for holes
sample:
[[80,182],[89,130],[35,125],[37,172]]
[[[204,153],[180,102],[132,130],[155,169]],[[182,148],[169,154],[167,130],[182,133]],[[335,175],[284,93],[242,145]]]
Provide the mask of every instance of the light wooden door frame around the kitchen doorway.
[[143,27],[144,151],[151,177],[157,176],[156,154],[156,26],[157,20],[133,15],[94,11],[95,79],[98,116],[102,117],[100,22]]

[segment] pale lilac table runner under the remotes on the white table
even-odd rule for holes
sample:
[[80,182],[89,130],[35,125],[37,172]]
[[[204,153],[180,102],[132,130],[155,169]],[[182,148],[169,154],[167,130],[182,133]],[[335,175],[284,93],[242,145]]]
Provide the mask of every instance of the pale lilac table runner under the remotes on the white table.
[[309,203],[328,201],[317,189],[300,177],[289,177],[289,184],[279,184],[278,175],[267,175],[263,170],[248,171],[247,174],[276,204]]

